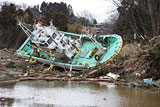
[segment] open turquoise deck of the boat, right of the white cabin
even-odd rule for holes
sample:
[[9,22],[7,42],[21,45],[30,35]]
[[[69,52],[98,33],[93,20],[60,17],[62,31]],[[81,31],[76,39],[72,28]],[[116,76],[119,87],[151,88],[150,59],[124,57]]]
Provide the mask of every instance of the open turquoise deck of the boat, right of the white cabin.
[[[105,53],[101,56],[99,61],[95,60],[95,55],[93,57],[89,57],[90,53],[95,47],[95,44],[91,41],[85,41],[83,42],[81,46],[80,55],[76,54],[74,57],[72,64],[76,65],[85,65],[87,64],[89,67],[96,66],[99,63],[103,63],[107,60],[109,60],[113,55],[117,53],[117,50],[120,48],[119,41],[117,39],[120,38],[104,38],[104,45],[106,47]],[[101,51],[101,50],[98,50]],[[97,51],[97,53],[98,53]]]

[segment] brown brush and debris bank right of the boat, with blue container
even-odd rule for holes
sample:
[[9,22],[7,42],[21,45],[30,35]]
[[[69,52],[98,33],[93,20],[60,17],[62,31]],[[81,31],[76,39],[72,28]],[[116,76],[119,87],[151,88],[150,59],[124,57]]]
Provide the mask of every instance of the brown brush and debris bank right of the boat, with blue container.
[[145,48],[136,43],[126,44],[112,63],[123,68],[112,72],[119,74],[121,79],[160,88],[160,39]]

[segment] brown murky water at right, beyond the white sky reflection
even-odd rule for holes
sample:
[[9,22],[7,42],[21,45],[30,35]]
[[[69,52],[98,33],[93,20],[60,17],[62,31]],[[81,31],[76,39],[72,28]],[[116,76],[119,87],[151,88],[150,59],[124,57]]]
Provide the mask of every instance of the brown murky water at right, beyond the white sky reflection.
[[[160,93],[143,90],[139,88],[125,88],[119,86],[115,88],[118,96],[125,98],[125,105],[132,107],[159,107],[160,106]],[[124,104],[123,104],[124,105]]]

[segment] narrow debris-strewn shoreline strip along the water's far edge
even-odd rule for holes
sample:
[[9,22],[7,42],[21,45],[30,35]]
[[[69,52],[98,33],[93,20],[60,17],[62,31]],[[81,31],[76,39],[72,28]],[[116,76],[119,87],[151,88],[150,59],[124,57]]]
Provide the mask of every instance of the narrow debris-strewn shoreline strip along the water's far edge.
[[123,79],[102,79],[102,78],[80,78],[80,77],[19,77],[19,78],[11,78],[0,80],[0,84],[3,83],[16,83],[20,81],[78,81],[78,82],[106,82],[106,83],[114,83],[115,85],[123,85],[128,86],[129,88],[141,88],[152,91],[160,91],[160,87],[155,85],[156,82],[160,83],[160,80],[153,81],[151,83],[137,83],[134,81],[124,81]]

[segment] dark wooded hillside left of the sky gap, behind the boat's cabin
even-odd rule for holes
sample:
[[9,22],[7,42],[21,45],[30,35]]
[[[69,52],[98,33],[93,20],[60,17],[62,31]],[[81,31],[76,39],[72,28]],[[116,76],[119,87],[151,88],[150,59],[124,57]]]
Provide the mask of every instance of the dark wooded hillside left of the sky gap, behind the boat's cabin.
[[[17,25],[17,19],[20,19],[28,25],[32,25],[35,20],[49,24],[53,20],[54,25],[62,31],[80,33],[81,25],[90,23],[85,17],[76,17],[72,6],[66,3],[46,3],[41,6],[28,7],[22,10],[21,6],[13,3],[1,4],[0,10],[0,49],[18,48],[27,38],[26,34]],[[95,19],[94,19],[95,20]],[[31,26],[28,26],[32,28]]]

